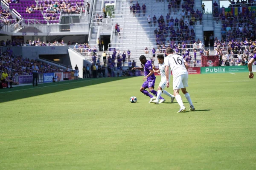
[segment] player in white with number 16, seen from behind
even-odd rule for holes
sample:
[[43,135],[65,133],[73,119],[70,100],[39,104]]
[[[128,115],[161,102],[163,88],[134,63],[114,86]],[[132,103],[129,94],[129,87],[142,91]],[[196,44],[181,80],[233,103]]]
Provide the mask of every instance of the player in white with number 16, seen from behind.
[[166,48],[167,57],[164,59],[165,67],[165,74],[166,74],[166,87],[169,87],[169,67],[172,70],[173,76],[173,92],[175,99],[177,100],[178,104],[180,105],[180,110],[177,112],[184,112],[186,111],[185,106],[183,105],[181,96],[179,94],[180,88],[182,93],[185,95],[186,99],[190,105],[190,111],[195,111],[193,103],[191,101],[189,93],[186,91],[186,87],[188,87],[188,71],[189,68],[188,63],[186,63],[185,59],[178,54],[173,54],[172,48]]

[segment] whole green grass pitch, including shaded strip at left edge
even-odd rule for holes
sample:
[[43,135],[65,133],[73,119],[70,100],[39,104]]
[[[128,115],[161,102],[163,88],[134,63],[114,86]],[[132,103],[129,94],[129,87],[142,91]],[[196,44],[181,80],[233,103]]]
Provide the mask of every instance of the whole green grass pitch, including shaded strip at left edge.
[[1,89],[0,170],[256,169],[256,79],[189,75],[185,113],[149,104],[142,79]]

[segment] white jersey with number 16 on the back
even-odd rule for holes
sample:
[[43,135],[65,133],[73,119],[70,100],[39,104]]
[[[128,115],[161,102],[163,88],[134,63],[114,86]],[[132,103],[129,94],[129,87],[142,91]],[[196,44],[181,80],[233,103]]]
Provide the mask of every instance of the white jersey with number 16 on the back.
[[171,68],[173,77],[188,74],[184,62],[185,59],[178,54],[170,54],[164,59],[164,64]]

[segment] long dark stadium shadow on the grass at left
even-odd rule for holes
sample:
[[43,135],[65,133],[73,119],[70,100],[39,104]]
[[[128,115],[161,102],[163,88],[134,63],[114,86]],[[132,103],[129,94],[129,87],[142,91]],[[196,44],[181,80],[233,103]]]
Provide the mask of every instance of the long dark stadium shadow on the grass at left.
[[[70,80],[57,83],[44,83],[38,84],[37,87],[32,85],[19,86],[15,88],[0,89],[0,103],[9,102],[17,99],[24,99],[33,96],[39,96],[44,94],[56,93],[59,91],[66,91],[74,88],[81,88],[89,85],[96,85],[106,82],[113,82],[116,80],[128,79],[132,77],[110,77],[101,79],[79,79]],[[67,99],[71,100],[71,99]],[[40,102],[40,101],[38,101]]]

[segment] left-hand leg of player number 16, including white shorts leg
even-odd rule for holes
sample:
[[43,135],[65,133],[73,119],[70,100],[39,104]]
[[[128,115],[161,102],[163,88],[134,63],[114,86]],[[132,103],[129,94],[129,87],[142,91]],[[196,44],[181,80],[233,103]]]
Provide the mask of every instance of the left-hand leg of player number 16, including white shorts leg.
[[178,102],[178,104],[180,105],[180,110],[177,112],[184,112],[186,111],[186,108],[182,102],[181,96],[179,94],[180,92],[180,88],[183,88],[183,84],[182,84],[182,75],[178,76],[178,77],[173,77],[173,94],[175,96],[176,101]]

